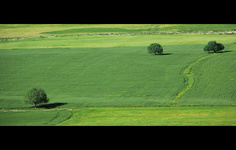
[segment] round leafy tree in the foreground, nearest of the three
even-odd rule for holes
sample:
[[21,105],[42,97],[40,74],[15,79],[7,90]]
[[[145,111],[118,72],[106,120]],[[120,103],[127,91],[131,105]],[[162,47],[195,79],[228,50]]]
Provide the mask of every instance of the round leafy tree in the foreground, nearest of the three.
[[37,104],[47,103],[49,101],[46,93],[41,88],[32,88],[26,91],[23,94],[23,96],[24,96],[24,102],[29,104],[34,104],[35,109]]

